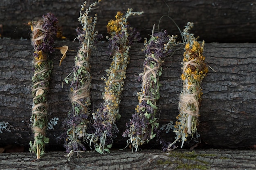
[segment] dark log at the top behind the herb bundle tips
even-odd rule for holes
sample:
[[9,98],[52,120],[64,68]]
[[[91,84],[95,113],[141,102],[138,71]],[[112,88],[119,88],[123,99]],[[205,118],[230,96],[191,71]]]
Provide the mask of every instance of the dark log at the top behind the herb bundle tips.
[[[47,12],[54,13],[62,26],[64,35],[73,40],[81,4],[84,0],[1,0],[0,24],[2,37],[28,38],[31,20],[38,20]],[[90,0],[92,3],[94,0]],[[254,0],[102,0],[98,13],[97,30],[106,33],[106,24],[117,11],[128,8],[144,11],[141,16],[130,17],[131,25],[142,37],[151,34],[153,24],[168,15],[183,29],[188,21],[195,23],[193,32],[206,42],[255,42],[256,2]],[[178,34],[175,24],[164,17],[159,28]],[[1,30],[0,30],[1,31]]]

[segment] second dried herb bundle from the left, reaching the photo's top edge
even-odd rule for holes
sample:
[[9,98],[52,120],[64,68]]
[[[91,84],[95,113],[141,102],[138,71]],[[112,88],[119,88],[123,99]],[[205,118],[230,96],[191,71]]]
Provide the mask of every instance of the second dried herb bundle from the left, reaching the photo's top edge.
[[63,122],[64,127],[67,129],[65,136],[64,147],[68,153],[78,150],[85,150],[83,141],[88,139],[90,126],[90,88],[91,88],[91,74],[90,74],[90,53],[95,48],[95,42],[99,38],[98,32],[94,31],[97,14],[90,17],[88,14],[101,0],[95,1],[90,4],[88,9],[85,10],[86,1],[83,3],[80,10],[79,22],[83,29],[76,29],[77,39],[80,46],[77,55],[74,58],[74,68],[68,77],[64,80],[70,83],[70,100],[72,109],[70,110],[67,119]]

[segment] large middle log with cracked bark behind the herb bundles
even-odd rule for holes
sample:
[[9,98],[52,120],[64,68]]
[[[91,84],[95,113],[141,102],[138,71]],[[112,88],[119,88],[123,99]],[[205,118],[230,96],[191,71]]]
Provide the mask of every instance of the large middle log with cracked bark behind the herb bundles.
[[[55,51],[54,72],[49,93],[49,120],[58,117],[54,130],[48,130],[50,144],[47,147],[63,149],[63,133],[61,126],[67,116],[71,104],[68,98],[69,85],[63,79],[70,73],[74,64],[74,56],[78,42],[56,42],[56,47],[68,45],[66,59],[58,66],[61,53]],[[99,42],[97,51],[92,52],[92,110],[102,102],[104,82],[101,77],[110,66],[112,59],[108,56],[107,42]],[[120,130],[115,148],[124,148],[126,139],[121,137],[126,129],[125,124],[134,113],[137,105],[137,92],[141,83],[137,81],[142,72],[144,53],[142,43],[135,43],[130,51],[131,61],[126,73],[124,92],[120,104],[121,119],[118,121]],[[204,55],[209,68],[207,77],[202,82],[203,100],[200,108],[200,139],[213,148],[248,148],[256,144],[256,44],[218,44],[206,43]],[[182,88],[180,79],[183,50],[175,51],[172,57],[163,64],[160,78],[161,98],[159,99],[160,126],[169,121],[176,121],[178,115],[178,95]],[[9,122],[9,130],[0,133],[0,146],[17,144],[27,147],[33,139],[29,127],[31,117],[31,77],[33,74],[33,47],[29,40],[0,39],[0,122]],[[167,141],[174,140],[174,133],[161,133]],[[187,143],[187,147],[193,144]],[[159,142],[153,139],[146,148],[159,148]],[[48,149],[51,150],[51,149]]]

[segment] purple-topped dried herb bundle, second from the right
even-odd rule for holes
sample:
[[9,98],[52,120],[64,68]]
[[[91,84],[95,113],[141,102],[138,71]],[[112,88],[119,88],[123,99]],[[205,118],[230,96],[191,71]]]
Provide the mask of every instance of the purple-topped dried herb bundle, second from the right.
[[170,56],[171,47],[175,42],[175,36],[170,36],[166,31],[153,33],[150,40],[145,40],[143,49],[146,58],[144,61],[144,72],[140,74],[142,87],[137,93],[139,104],[135,108],[135,113],[130,119],[129,128],[123,136],[129,137],[128,144],[131,143],[135,151],[139,146],[145,144],[155,137],[155,130],[158,128],[156,113],[158,110],[157,101],[159,93],[159,77],[162,75],[162,63]]

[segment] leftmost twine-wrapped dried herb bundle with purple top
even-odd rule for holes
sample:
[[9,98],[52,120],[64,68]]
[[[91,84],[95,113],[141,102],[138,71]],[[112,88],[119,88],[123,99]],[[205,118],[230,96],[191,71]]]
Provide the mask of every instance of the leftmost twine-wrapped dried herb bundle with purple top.
[[30,151],[35,152],[37,159],[45,154],[45,144],[49,143],[46,137],[47,129],[47,93],[49,92],[49,79],[52,73],[52,60],[48,55],[52,53],[54,37],[57,33],[58,20],[52,13],[43,15],[43,19],[32,22],[31,44],[34,46],[32,77],[32,130],[34,132],[34,142],[30,141]]

